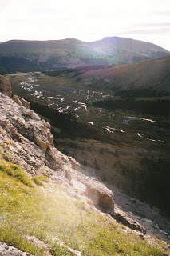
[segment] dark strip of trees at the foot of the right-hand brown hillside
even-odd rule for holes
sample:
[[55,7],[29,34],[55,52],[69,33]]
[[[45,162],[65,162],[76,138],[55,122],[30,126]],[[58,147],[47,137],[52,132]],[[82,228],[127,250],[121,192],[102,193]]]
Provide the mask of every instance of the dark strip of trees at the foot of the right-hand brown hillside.
[[170,114],[170,101],[168,100],[137,101],[130,98],[121,100],[108,99],[105,101],[93,102],[93,106],[109,110],[136,110],[144,114],[157,114],[164,116],[168,116]]

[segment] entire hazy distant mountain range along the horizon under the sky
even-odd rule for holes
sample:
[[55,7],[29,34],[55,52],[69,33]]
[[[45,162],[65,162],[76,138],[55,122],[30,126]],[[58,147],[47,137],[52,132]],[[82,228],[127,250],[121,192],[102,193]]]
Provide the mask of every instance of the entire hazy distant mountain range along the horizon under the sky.
[[74,38],[53,41],[11,40],[0,43],[0,69],[9,71],[58,70],[89,65],[140,62],[169,55],[149,42],[103,38],[82,42]]

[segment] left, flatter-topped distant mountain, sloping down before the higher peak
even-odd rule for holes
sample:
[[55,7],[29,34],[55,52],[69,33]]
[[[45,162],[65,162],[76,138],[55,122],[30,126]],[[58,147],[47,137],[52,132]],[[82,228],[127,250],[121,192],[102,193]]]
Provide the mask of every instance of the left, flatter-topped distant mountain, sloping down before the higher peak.
[[[57,41],[12,40],[0,44],[0,67],[17,70],[46,70],[74,66],[108,65],[119,63],[101,50],[77,39]],[[14,62],[10,66],[11,59]],[[23,66],[26,64],[26,67]]]

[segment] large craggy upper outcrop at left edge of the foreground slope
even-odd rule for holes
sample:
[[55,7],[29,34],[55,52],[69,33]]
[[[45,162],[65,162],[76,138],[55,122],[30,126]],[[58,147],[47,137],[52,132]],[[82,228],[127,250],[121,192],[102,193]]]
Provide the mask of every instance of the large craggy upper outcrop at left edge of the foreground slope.
[[[46,166],[61,170],[65,165],[65,156],[53,147],[49,123],[4,94],[0,95],[0,124],[0,145],[6,146],[2,154],[30,174]],[[71,166],[69,159],[67,163]]]

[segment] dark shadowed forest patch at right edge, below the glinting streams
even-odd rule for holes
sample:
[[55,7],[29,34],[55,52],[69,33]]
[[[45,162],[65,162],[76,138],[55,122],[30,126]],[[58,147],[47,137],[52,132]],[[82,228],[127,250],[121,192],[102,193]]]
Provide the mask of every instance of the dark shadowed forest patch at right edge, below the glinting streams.
[[127,190],[170,216],[170,162],[165,158],[140,158],[140,170],[120,163],[121,174],[128,180]]

